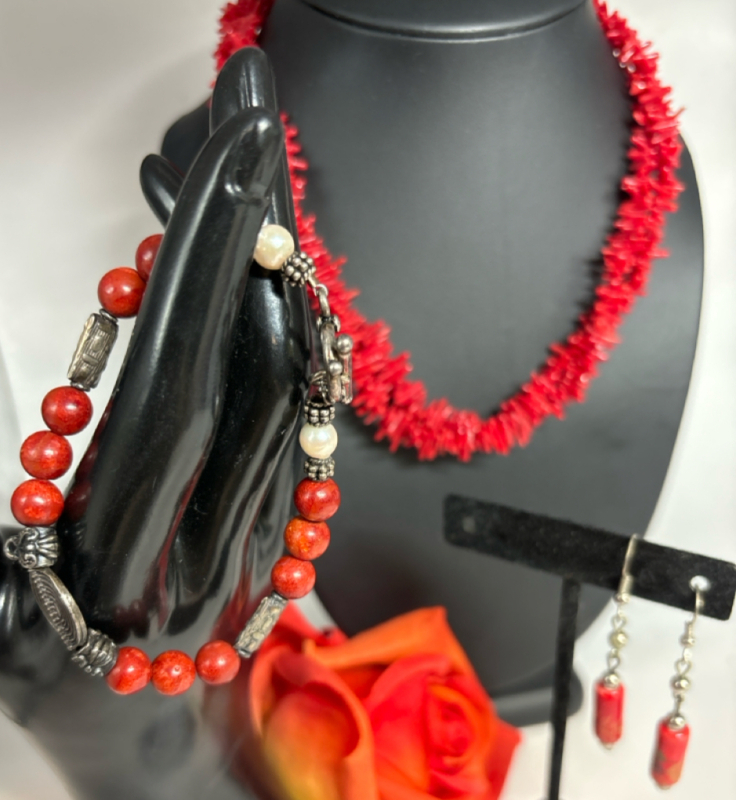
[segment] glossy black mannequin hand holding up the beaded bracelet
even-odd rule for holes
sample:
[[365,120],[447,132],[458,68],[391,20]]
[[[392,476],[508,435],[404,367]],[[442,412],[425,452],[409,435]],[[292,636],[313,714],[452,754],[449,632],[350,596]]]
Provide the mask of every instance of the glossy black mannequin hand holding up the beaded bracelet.
[[[266,107],[265,57],[241,52],[186,179],[144,162],[166,234],[57,524],[55,569],[87,623],[151,657],[232,641],[281,554],[309,326],[304,293],[250,267],[264,215],[294,229],[281,125]],[[116,696],[71,663],[27,575],[0,560],[0,702],[80,797],[250,796],[211,713],[233,691]]]

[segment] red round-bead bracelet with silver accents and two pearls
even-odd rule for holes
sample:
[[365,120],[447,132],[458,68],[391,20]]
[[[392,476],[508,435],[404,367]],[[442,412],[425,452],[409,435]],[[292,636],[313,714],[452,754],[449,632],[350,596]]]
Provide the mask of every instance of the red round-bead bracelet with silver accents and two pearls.
[[[291,234],[278,225],[265,225],[259,234],[254,259],[269,270],[280,270],[292,286],[308,285],[319,300],[317,328],[324,369],[311,379],[311,396],[305,407],[306,422],[299,442],[307,455],[307,478],[294,492],[298,515],[284,531],[289,555],[271,571],[273,591],[261,600],[234,645],[207,642],[192,660],[180,650],[167,650],[153,661],[137,647],[121,647],[104,633],[87,628],[79,606],[51,567],[59,555],[59,539],[52,526],[65,508],[64,497],[52,480],[64,475],[72,463],[66,439],[83,430],[92,418],[87,392],[99,382],[117,338],[117,320],[138,313],[161,245],[161,234],[144,239],[135,255],[136,269],[118,267],[102,277],[98,297],[102,305],[84,326],[67,377],[69,386],[52,389],[41,404],[48,430],[31,434],[21,446],[23,468],[31,475],[13,492],[13,516],[24,528],[10,536],[3,552],[28,570],[34,595],[49,623],[73,651],[72,661],[88,674],[104,676],[119,694],[132,694],[149,683],[162,694],[177,695],[194,683],[197,675],[210,685],[227,683],[238,674],[241,657],[250,657],[273,629],[289,600],[304,597],[314,587],[312,561],[330,543],[326,524],[340,505],[340,490],[332,479],[332,453],[337,433],[332,425],[335,403],[352,400],[352,339],[340,334],[340,321],[330,311],[327,289],[315,278],[314,262],[294,251]],[[73,513],[73,498],[66,509]]]

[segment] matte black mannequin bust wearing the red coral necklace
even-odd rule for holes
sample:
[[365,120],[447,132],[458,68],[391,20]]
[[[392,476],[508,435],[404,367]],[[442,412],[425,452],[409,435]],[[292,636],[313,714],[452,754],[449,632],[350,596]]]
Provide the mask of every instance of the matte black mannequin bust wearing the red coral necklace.
[[[369,319],[430,397],[487,414],[589,302],[620,200],[630,108],[578,0],[279,0],[264,27],[279,100],[309,161],[306,208]],[[318,592],[348,633],[422,605],[449,620],[499,710],[543,718],[556,579],[452,549],[456,493],[623,534],[646,531],[697,336],[703,243],[687,153],[671,255],[583,405],[526,449],[419,463],[346,410],[343,507]],[[585,590],[587,626],[608,598]],[[526,694],[527,690],[532,694]],[[536,698],[536,699],[535,699]]]

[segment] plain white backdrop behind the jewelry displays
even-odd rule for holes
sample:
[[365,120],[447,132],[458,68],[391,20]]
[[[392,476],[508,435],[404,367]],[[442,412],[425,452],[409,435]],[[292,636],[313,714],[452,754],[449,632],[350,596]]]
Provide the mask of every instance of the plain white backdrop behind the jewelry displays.
[[[0,0],[0,520],[22,480],[20,431],[63,380],[100,274],[129,264],[158,226],[138,188],[141,158],[201,102],[213,76],[220,0]],[[703,316],[693,383],[649,535],[736,561],[736,3],[616,0],[662,54],[686,108],[683,132],[700,181],[706,233]],[[93,66],[92,66],[93,65]],[[646,300],[642,300],[646,302]],[[129,331],[130,323],[124,328]],[[96,391],[109,393],[124,342]],[[7,398],[12,394],[12,403]],[[608,614],[582,638],[576,669],[603,669]],[[627,734],[613,753],[591,735],[588,698],[568,725],[566,800],[648,800],[656,720],[685,614],[634,600],[626,650]],[[669,796],[736,798],[736,626],[703,620],[684,776]],[[73,724],[70,722],[70,724]],[[539,800],[548,726],[525,730],[506,800]],[[67,800],[22,734],[0,715],[0,800]]]

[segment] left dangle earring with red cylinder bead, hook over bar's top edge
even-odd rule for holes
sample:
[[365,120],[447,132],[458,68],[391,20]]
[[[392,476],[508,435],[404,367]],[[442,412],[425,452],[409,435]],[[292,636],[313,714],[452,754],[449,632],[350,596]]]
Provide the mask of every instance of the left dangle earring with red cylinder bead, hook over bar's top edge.
[[617,672],[621,664],[621,650],[623,650],[628,636],[624,630],[626,615],[624,609],[631,599],[631,588],[634,579],[631,577],[631,562],[636,552],[639,536],[634,534],[629,539],[629,546],[624,556],[624,566],[621,571],[621,580],[616,592],[616,613],[611,622],[613,630],[608,641],[611,649],[608,651],[608,671],[595,685],[595,734],[604,747],[609,750],[621,738],[624,722],[624,685]]

